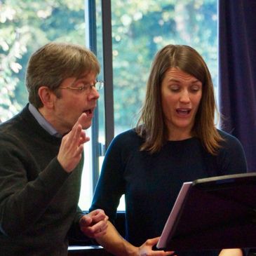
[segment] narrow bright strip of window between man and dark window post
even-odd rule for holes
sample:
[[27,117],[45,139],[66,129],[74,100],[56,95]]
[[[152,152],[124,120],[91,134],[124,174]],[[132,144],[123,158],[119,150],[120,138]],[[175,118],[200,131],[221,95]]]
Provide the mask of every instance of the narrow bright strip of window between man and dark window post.
[[[89,4],[92,4],[92,6],[89,7]],[[90,17],[90,15],[94,16],[94,13],[88,13],[88,9],[90,8],[90,11],[93,11],[93,1],[86,1],[86,28],[87,27],[93,27],[91,26],[93,24],[93,20]],[[86,45],[87,47],[93,47],[93,51],[97,55],[97,60],[100,62],[100,74],[98,75],[97,79],[104,81],[103,76],[103,53],[102,53],[102,1],[101,0],[95,0],[95,31],[88,31],[86,30]],[[93,36],[94,38],[90,38],[90,36]],[[91,42],[95,41],[95,45]],[[93,45],[93,46],[92,46]],[[104,153],[105,153],[105,95],[104,95],[104,89],[99,91],[100,98],[97,100],[97,109],[95,109],[95,114],[93,117],[93,125],[97,123],[97,131],[95,132],[95,140],[97,142],[93,143],[92,140],[94,139],[91,133],[91,128],[87,130],[87,134],[92,139],[90,142],[86,143],[88,144],[88,149],[85,150],[84,154],[86,156],[86,159],[90,159],[89,164],[85,164],[83,167],[83,177],[82,177],[82,183],[81,183],[81,195],[79,200],[79,206],[82,210],[88,210],[90,208],[90,204],[93,198],[93,190],[95,189],[95,185],[97,182],[97,179],[95,180],[95,177],[98,177],[100,175],[100,169],[102,166],[102,161],[104,159]],[[97,114],[96,114],[97,113]],[[97,120],[96,120],[97,119]],[[98,151],[97,153],[99,156],[95,156],[96,159],[94,161],[91,161],[93,159],[92,155],[92,147],[97,147]],[[96,162],[96,163],[95,163]],[[95,166],[93,165],[95,163]]]

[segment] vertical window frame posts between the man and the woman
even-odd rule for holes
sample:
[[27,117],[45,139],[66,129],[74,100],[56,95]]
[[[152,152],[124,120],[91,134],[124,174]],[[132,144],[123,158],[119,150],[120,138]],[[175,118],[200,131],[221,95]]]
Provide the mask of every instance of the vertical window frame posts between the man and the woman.
[[[102,8],[102,73],[105,81],[105,150],[109,147],[114,137],[114,95],[113,95],[113,64],[112,64],[112,16],[111,0],[100,1]],[[86,42],[87,47],[97,56],[97,20],[96,20],[96,1],[86,0],[85,2],[86,19]],[[99,157],[102,152],[102,145],[98,141],[99,137],[99,111],[95,109],[95,117],[91,127],[92,137],[92,188],[95,190],[97,180],[100,177]]]

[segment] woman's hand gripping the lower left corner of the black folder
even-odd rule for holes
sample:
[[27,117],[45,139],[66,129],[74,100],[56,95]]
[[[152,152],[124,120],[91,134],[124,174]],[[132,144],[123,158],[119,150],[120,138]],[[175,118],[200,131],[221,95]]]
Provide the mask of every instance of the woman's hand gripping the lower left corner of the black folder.
[[140,256],[167,256],[173,255],[173,251],[163,251],[163,250],[152,250],[153,246],[159,241],[160,237],[148,239],[138,248],[138,255]]

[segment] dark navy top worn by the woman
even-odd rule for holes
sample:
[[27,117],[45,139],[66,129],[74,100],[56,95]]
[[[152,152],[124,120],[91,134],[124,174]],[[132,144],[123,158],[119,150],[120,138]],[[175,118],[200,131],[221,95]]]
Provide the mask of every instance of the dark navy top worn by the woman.
[[90,210],[102,208],[114,220],[119,199],[125,194],[126,239],[142,245],[148,238],[160,236],[183,182],[246,172],[241,143],[221,130],[219,133],[225,142],[217,156],[209,154],[196,137],[168,141],[159,153],[149,154],[140,151],[143,140],[134,130],[118,135],[107,150]]

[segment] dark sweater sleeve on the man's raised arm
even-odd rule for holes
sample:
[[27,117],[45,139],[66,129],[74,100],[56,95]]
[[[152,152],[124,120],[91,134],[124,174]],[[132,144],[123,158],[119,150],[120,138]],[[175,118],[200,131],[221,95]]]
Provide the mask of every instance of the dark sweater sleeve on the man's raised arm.
[[22,150],[0,140],[0,231],[6,236],[18,236],[39,220],[69,177],[54,158],[29,181],[32,173]]

